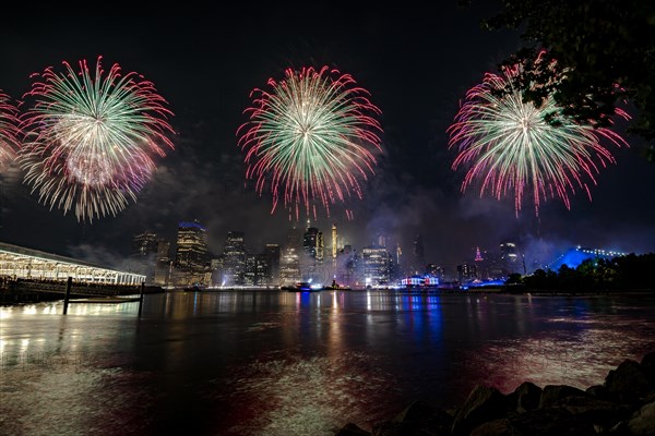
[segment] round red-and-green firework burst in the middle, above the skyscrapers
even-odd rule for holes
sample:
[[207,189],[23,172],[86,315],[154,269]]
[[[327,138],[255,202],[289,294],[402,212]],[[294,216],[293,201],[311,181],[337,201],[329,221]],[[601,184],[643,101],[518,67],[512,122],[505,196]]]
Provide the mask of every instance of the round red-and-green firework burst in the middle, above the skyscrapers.
[[[317,217],[317,204],[327,216],[335,203],[362,197],[360,180],[374,174],[381,152],[377,117],[381,111],[369,93],[348,74],[287,69],[285,78],[269,80],[270,90],[255,88],[249,122],[237,130],[246,152],[246,179],[255,180],[261,195],[273,195],[273,214],[281,197],[289,219],[300,209]],[[347,216],[352,217],[347,210]]]

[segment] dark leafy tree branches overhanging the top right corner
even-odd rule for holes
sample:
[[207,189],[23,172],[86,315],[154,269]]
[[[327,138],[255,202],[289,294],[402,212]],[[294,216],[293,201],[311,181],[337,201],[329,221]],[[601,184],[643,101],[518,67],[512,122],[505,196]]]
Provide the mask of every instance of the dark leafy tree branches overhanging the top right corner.
[[543,50],[543,60],[557,61],[553,70],[524,72],[526,100],[538,105],[552,93],[565,116],[595,126],[608,126],[629,101],[638,111],[629,131],[655,138],[654,1],[502,0],[501,8],[483,28],[520,29],[525,43],[502,64],[533,65]]

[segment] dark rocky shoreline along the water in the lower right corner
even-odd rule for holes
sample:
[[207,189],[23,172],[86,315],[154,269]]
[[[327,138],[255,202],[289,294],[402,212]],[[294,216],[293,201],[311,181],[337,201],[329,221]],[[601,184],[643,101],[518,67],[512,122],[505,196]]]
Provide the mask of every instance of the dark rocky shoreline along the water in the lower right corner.
[[454,409],[414,401],[368,432],[355,423],[336,436],[654,436],[655,351],[641,362],[627,359],[603,385],[582,390],[568,385],[524,382],[502,393],[476,386]]

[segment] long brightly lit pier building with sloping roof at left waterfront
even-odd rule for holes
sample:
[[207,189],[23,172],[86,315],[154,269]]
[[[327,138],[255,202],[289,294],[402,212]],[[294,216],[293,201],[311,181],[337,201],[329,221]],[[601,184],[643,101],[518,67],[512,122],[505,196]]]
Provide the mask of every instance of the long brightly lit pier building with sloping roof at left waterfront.
[[138,286],[145,276],[105,268],[88,262],[0,242],[0,284],[39,281],[59,284],[72,277],[75,283]]

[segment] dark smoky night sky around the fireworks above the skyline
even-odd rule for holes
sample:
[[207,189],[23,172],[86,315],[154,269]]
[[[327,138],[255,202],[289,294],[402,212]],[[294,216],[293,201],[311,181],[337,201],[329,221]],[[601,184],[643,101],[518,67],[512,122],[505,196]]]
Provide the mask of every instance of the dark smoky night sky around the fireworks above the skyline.
[[284,208],[271,214],[270,195],[258,196],[246,181],[236,131],[247,121],[250,92],[265,88],[269,77],[283,78],[287,68],[329,65],[353,75],[382,110],[384,154],[364,183],[364,199],[348,203],[353,220],[338,206],[331,217],[319,209],[313,225],[323,232],[335,222],[358,250],[384,232],[407,253],[420,234],[426,261],[446,268],[471,261],[476,246],[496,252],[505,241],[520,243],[527,264],[546,264],[575,245],[655,251],[655,164],[638,137],[626,136],[629,149],[608,145],[617,164],[597,177],[593,201],[579,193],[570,210],[550,199],[537,218],[528,201],[516,217],[512,197],[480,198],[474,189],[462,194],[464,173],[451,169],[455,150],[448,148],[446,129],[466,90],[521,46],[519,33],[480,29],[480,17],[492,12],[488,5],[398,4],[271,3],[199,11],[202,17],[5,20],[0,89],[21,98],[32,73],[50,65],[61,71],[64,60],[94,65],[103,56],[106,69],[119,63],[155,84],[175,113],[176,149],[157,160],[136,203],[93,223],[39,204],[20,171],[10,170],[2,174],[0,241],[112,267],[120,267],[134,234],[150,229],[172,240],[178,222],[193,219],[207,228],[216,254],[230,230],[245,231],[254,252],[283,243],[295,220]]

